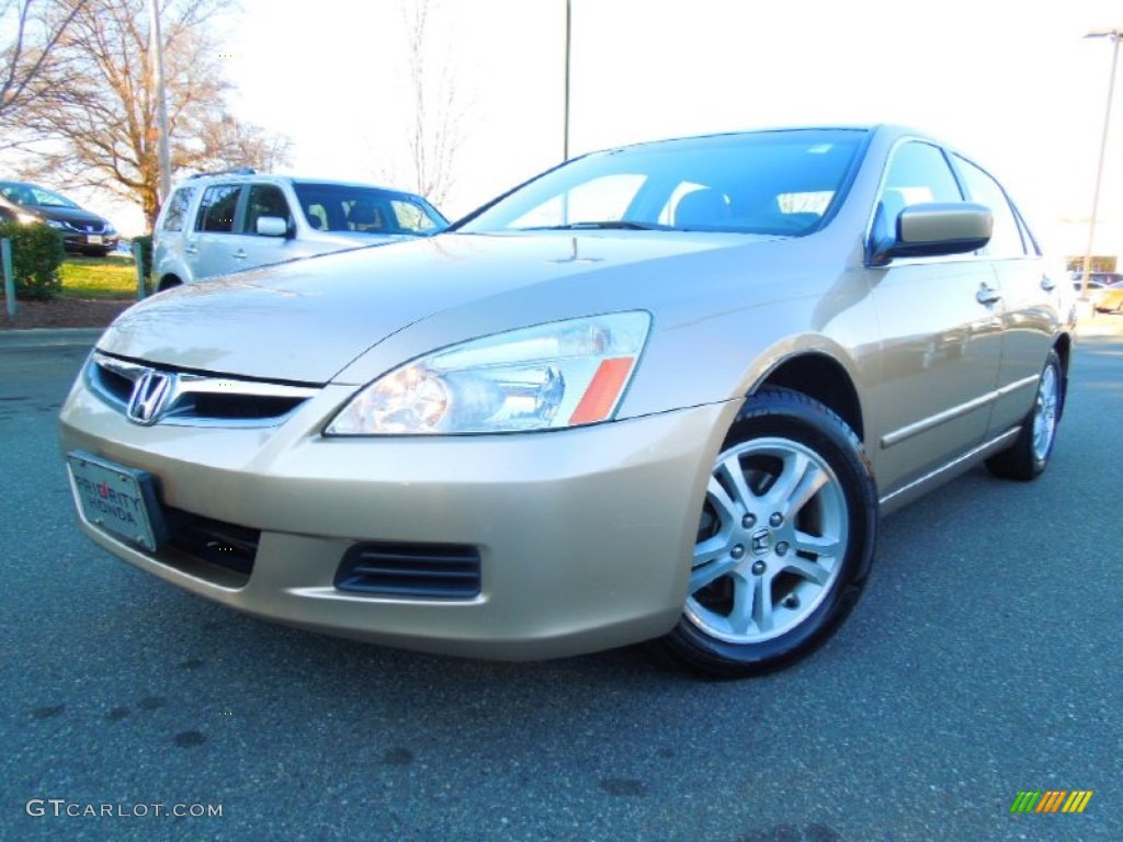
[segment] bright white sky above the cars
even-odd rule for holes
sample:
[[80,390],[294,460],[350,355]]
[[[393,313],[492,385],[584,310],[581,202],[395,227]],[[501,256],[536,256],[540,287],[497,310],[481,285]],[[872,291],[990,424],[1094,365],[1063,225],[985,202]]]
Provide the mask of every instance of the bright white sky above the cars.
[[[231,111],[292,140],[282,172],[402,180],[410,2],[241,0],[223,22]],[[562,159],[566,2],[429,2],[426,72],[455,80],[460,115],[442,204],[455,218]],[[960,147],[1006,184],[1048,244],[1083,253],[1112,58],[1110,39],[1084,36],[1123,27],[1121,0],[569,4],[570,154],[756,127],[900,122]],[[1121,100],[1123,79],[1096,249],[1115,254]]]

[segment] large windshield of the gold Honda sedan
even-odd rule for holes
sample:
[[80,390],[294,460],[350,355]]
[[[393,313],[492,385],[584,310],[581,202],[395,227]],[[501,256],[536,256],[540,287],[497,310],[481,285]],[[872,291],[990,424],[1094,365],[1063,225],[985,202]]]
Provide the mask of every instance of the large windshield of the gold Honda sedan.
[[865,138],[859,129],[794,129],[594,153],[528,182],[457,230],[810,234],[830,217]]

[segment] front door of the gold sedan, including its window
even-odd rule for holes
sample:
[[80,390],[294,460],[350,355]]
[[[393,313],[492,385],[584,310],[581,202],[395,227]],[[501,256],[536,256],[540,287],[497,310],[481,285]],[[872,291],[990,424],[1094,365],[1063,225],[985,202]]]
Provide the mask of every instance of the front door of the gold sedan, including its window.
[[[874,235],[910,204],[962,199],[943,152],[906,141],[891,158]],[[870,447],[887,494],[983,441],[1002,359],[1002,300],[978,255],[897,258],[867,272],[882,336]]]

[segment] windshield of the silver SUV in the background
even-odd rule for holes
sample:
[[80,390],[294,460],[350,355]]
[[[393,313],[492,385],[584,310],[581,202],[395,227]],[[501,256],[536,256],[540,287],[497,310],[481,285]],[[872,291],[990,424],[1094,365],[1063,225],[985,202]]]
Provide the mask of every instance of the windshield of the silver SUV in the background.
[[429,235],[448,227],[421,196],[349,184],[293,184],[308,223],[320,231]]

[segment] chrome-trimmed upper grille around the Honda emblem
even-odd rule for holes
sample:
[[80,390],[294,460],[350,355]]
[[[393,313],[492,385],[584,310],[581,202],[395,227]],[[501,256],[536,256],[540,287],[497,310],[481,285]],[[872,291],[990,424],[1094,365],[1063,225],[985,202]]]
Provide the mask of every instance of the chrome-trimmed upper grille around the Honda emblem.
[[[168,394],[153,417],[134,418],[129,404],[137,384],[153,374],[166,379]],[[93,354],[86,381],[102,400],[131,420],[180,427],[273,427],[319,391],[308,385],[154,368],[101,351]]]

